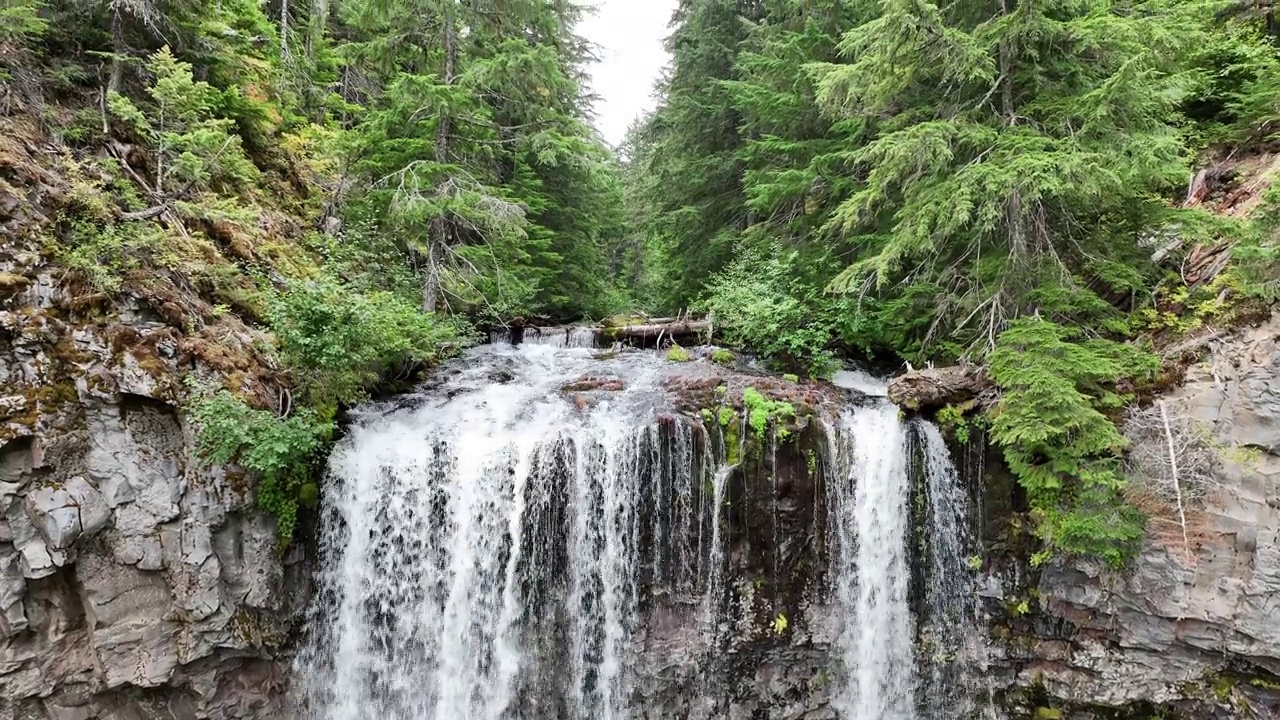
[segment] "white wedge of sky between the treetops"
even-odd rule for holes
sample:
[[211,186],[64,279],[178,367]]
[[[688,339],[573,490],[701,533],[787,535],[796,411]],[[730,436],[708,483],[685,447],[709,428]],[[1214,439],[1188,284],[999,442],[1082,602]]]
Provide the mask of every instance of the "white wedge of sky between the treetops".
[[580,0],[595,5],[579,33],[598,45],[600,61],[591,67],[595,127],[612,145],[627,126],[654,105],[653,83],[667,64],[662,42],[677,0]]

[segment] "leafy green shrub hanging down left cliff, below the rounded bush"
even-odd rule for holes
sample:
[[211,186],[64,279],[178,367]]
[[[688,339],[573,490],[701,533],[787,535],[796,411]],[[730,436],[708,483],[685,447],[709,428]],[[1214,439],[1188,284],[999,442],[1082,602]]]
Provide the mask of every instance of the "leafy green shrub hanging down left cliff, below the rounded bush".
[[196,427],[196,451],[211,465],[236,462],[259,478],[257,505],[275,515],[280,539],[297,525],[298,505],[314,505],[315,484],[307,482],[317,454],[333,436],[332,420],[308,407],[288,418],[250,407],[221,389],[197,392],[187,404]]

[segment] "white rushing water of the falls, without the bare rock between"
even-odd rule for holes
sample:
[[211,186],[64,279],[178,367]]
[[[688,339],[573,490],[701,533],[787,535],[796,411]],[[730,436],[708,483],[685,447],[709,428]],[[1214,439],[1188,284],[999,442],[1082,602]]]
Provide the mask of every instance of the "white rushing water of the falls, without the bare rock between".
[[[733,580],[727,459],[744,455],[726,445],[745,443],[745,432],[669,413],[663,379],[709,370],[653,352],[596,359],[564,343],[477,348],[434,387],[353,423],[324,488],[324,570],[298,660],[305,716],[646,716],[631,670],[645,607],[659,600],[696,607],[701,652],[722,652]],[[625,388],[561,392],[586,375],[621,378]],[[931,543],[929,596],[965,592],[966,510],[942,438],[882,400],[850,404],[823,424],[828,589],[819,600],[835,615],[844,667],[832,705],[841,720],[955,716],[916,700],[957,682],[954,673],[918,679],[908,601],[915,446],[931,534],[946,536]],[[765,452],[776,469],[777,433]],[[773,525],[751,529],[771,533],[774,553],[785,539],[777,483],[774,474]],[[777,573],[781,555],[769,562]],[[973,615],[931,602],[937,642],[957,644]],[[731,716],[721,705],[714,716]]]

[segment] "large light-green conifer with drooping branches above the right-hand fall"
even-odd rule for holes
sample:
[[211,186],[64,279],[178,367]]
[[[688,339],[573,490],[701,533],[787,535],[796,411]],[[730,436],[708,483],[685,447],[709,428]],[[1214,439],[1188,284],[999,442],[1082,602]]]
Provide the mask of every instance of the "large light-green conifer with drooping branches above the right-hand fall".
[[[859,246],[833,288],[943,290],[929,337],[993,346],[1014,318],[1105,322],[1143,284],[1139,232],[1185,181],[1174,102],[1194,4],[884,0],[815,64],[819,100],[873,118],[827,229]],[[1147,268],[1147,270],[1143,270]],[[1149,275],[1148,275],[1149,277]]]

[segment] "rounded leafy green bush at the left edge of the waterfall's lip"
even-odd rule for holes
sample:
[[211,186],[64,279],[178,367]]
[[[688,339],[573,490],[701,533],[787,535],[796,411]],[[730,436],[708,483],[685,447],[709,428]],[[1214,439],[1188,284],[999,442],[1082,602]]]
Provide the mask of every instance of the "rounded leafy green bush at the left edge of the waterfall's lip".
[[296,283],[268,307],[280,357],[316,405],[358,402],[387,373],[438,360],[460,328],[389,292],[332,279]]

